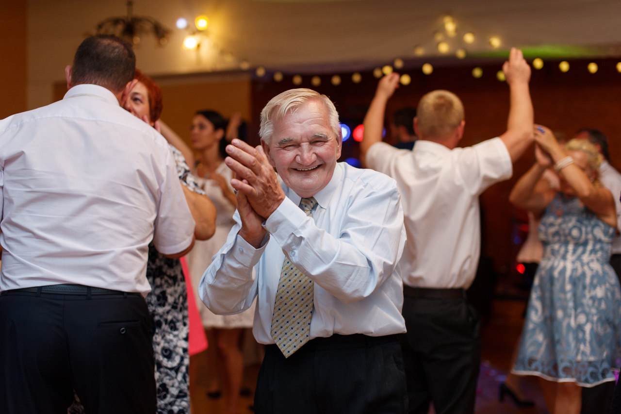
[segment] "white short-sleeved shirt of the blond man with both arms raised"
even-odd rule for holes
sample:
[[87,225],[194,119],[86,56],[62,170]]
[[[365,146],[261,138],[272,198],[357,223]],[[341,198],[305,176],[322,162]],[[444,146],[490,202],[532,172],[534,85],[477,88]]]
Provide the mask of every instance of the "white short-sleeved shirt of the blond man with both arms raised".
[[453,150],[419,140],[411,152],[380,143],[369,149],[366,162],[399,186],[408,241],[401,260],[404,283],[467,288],[480,251],[478,196],[512,173],[501,140]]

